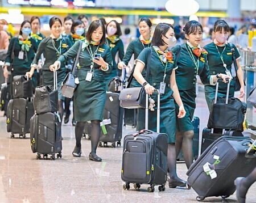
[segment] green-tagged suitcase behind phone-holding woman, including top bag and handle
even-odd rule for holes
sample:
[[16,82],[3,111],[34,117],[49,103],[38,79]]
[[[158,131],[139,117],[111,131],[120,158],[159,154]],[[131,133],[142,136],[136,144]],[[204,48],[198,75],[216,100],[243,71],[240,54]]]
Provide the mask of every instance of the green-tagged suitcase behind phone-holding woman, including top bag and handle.
[[[122,79],[114,77],[110,81],[109,91],[106,92],[106,103],[103,111],[103,121],[101,122],[101,137],[99,146],[108,146],[108,142],[112,143],[112,147],[121,146],[123,131],[123,113],[124,109],[120,107],[119,92],[125,88],[125,69],[122,69]],[[105,125],[106,122],[106,125]],[[110,123],[109,123],[110,122]]]

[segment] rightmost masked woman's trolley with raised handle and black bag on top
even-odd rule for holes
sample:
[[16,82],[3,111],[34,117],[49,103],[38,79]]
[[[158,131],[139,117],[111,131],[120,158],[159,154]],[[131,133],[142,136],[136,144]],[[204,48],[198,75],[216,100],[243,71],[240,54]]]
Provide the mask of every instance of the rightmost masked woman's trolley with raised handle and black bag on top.
[[242,136],[243,120],[245,119],[246,103],[237,98],[229,98],[230,80],[227,87],[226,97],[217,98],[218,83],[210,111],[208,128],[203,129],[201,153],[221,136]]

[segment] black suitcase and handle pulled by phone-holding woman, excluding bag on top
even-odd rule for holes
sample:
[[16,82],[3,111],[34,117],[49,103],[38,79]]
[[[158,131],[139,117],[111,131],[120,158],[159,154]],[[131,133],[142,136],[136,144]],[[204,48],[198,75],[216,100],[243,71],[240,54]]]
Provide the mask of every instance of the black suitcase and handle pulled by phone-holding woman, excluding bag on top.
[[[57,72],[53,71],[53,74],[54,91],[52,94],[57,95]],[[54,160],[55,154],[57,154],[57,158],[61,158],[62,142],[59,112],[35,114],[30,120],[30,126],[31,150],[33,153],[37,153],[36,159],[40,159],[41,154],[44,159],[51,155],[50,159]]]

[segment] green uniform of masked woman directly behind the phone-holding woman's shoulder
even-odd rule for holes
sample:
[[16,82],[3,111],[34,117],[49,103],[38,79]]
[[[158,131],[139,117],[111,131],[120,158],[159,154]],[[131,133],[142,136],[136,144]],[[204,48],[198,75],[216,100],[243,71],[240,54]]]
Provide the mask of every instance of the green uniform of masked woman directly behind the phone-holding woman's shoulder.
[[[117,39],[119,39],[119,37],[117,37]],[[106,38],[106,44],[109,45],[110,52],[112,55],[112,65],[113,65],[112,71],[109,74],[104,74],[106,87],[108,87],[109,81],[113,77],[116,77],[117,75],[121,76],[122,71],[117,68],[117,62],[115,62],[115,56],[117,55],[117,52],[118,52],[118,57],[122,61],[123,56],[125,55],[125,51],[123,48],[123,41],[121,39],[117,41],[110,41],[108,38]]]

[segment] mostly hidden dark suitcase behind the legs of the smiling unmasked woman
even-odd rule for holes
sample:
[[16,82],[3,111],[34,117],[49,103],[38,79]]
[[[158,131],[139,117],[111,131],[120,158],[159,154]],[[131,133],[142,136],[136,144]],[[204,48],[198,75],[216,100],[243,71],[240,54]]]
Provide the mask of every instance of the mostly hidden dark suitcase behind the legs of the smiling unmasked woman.
[[[193,159],[196,160],[199,157],[199,129],[200,129],[200,119],[197,116],[193,117],[192,125],[194,127],[194,137],[193,137]],[[177,157],[177,161],[184,161],[182,151]]]

